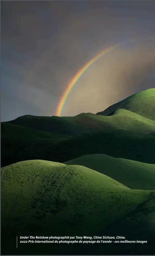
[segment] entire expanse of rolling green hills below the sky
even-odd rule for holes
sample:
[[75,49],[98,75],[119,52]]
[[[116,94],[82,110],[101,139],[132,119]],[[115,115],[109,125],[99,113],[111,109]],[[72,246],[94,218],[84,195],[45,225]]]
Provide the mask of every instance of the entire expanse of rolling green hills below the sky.
[[[149,89],[97,114],[2,122],[1,253],[154,254],[154,103]],[[121,235],[147,243],[17,249],[20,235]]]

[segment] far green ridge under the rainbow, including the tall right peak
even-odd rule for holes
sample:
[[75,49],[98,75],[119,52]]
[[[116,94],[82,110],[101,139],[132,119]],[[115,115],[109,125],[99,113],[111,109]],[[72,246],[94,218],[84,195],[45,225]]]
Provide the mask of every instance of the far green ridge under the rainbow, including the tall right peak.
[[[75,117],[25,115],[5,122],[3,126],[5,125],[4,128],[7,129],[6,123],[17,124],[39,131],[70,136],[80,136],[107,129],[125,129],[134,132],[139,132],[140,129],[141,133],[150,133],[155,132],[154,102],[155,89],[153,88],[131,95],[96,115],[91,113],[81,113]],[[5,133],[7,134],[7,132]]]

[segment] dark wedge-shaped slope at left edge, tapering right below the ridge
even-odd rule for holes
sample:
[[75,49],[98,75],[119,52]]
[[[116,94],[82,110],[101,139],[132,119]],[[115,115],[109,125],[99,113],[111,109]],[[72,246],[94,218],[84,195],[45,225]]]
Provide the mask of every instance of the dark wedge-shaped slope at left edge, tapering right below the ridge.
[[56,134],[50,132],[43,132],[29,127],[12,124],[8,122],[1,122],[1,137],[16,138],[16,139],[56,139],[56,138],[70,138],[71,136]]

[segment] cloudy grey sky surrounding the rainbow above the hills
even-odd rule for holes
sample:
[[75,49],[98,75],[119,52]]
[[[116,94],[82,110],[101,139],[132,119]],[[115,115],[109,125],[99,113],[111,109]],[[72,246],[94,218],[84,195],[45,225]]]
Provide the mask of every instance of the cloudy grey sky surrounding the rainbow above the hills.
[[155,87],[155,1],[1,1],[1,121],[97,113]]

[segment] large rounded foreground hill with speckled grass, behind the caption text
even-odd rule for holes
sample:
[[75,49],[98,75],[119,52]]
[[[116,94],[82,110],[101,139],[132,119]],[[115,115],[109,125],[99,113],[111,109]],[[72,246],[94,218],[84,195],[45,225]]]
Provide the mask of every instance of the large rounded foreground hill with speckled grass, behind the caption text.
[[[41,160],[5,166],[1,168],[1,253],[23,254],[23,246],[14,246],[17,235],[95,235],[134,215],[146,202],[151,207],[153,198],[155,192],[132,190],[84,166]],[[24,247],[25,254],[80,250],[87,252],[79,244]]]

